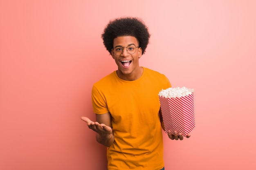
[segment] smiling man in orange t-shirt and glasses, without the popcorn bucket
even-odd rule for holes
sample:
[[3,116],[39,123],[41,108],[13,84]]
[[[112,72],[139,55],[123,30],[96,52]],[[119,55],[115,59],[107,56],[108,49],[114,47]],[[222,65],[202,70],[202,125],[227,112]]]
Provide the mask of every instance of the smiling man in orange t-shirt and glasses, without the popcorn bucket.
[[[148,28],[138,18],[118,18],[108,23],[102,38],[118,69],[92,87],[96,122],[81,119],[108,147],[108,170],[164,170],[158,93],[171,84],[165,75],[139,66],[150,38]],[[169,131],[168,137],[183,139],[181,133],[174,134]]]

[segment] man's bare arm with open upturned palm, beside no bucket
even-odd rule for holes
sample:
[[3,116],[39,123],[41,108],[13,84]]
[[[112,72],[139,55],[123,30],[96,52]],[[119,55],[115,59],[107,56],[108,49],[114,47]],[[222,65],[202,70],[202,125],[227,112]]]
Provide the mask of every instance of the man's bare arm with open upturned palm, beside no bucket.
[[88,127],[97,132],[96,140],[104,146],[111,146],[115,140],[111,128],[111,115],[105,113],[102,115],[96,114],[96,122],[91,121],[88,117],[81,117]]

